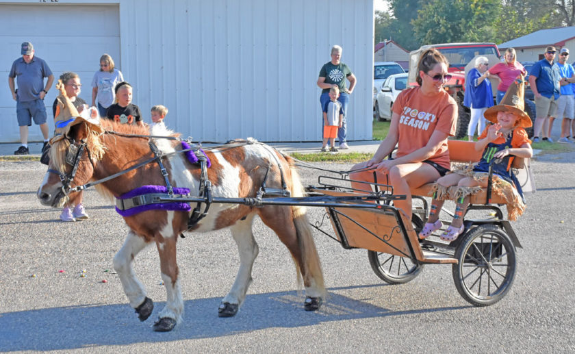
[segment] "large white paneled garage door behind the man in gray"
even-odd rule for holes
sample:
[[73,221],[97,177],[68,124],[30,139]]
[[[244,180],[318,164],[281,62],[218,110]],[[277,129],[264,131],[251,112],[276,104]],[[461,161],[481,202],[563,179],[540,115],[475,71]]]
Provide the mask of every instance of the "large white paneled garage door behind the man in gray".
[[[120,63],[120,25],[118,5],[64,5],[60,3],[0,4],[0,142],[19,142],[16,101],[8,88],[8,73],[20,54],[22,42],[31,42],[36,55],[50,66],[55,81],[65,71],[81,79],[80,97],[92,102],[92,77],[99,70],[103,53]],[[44,99],[50,131],[54,129],[52,103],[55,84]],[[40,129],[29,129],[29,141],[41,141]]]

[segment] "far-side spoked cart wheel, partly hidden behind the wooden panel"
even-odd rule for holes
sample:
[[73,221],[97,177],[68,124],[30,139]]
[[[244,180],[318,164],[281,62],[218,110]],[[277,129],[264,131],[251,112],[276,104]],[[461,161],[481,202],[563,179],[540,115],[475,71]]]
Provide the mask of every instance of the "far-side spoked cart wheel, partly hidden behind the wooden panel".
[[[423,221],[415,214],[411,217],[411,223],[416,232],[423,227]],[[389,284],[403,284],[411,281],[421,273],[424,266],[413,263],[409,257],[369,250],[368,258],[374,273]]]

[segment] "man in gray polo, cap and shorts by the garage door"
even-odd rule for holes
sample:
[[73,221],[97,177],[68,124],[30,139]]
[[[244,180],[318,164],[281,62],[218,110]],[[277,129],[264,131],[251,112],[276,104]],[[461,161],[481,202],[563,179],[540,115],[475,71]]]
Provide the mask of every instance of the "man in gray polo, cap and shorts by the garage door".
[[[34,123],[40,125],[40,130],[44,136],[44,146],[42,152],[48,144],[48,124],[46,123],[46,107],[44,97],[52,87],[54,75],[44,60],[34,55],[34,47],[30,42],[22,43],[22,58],[14,60],[10,74],[8,74],[8,86],[12,92],[12,98],[16,101],[16,116],[20,127],[21,147],[14,151],[14,155],[27,155],[28,149],[28,127]],[[14,77],[18,83],[18,90],[15,90]],[[44,77],[47,77],[44,87]]]

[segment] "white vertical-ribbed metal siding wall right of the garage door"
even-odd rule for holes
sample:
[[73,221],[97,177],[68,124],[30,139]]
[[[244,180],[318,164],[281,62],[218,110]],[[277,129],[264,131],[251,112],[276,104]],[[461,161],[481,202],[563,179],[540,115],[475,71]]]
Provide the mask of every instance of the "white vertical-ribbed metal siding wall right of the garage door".
[[120,38],[144,121],[163,104],[168,127],[217,141],[320,140],[316,81],[341,45],[358,79],[348,139],[371,140],[371,0],[121,0]]

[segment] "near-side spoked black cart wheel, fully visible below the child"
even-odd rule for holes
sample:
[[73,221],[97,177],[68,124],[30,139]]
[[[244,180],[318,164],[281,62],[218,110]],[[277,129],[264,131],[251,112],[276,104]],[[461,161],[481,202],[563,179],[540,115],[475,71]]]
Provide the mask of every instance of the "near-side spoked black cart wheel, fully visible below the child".
[[455,250],[453,281],[465,301],[493,305],[511,289],[515,279],[515,246],[496,225],[481,225],[463,236]]

